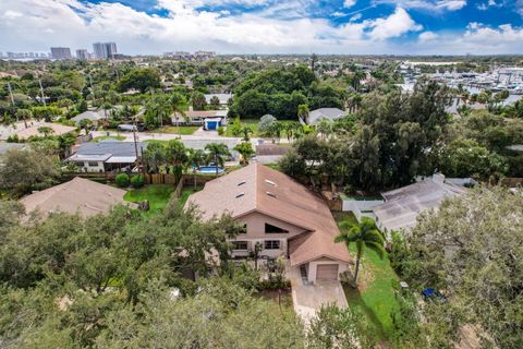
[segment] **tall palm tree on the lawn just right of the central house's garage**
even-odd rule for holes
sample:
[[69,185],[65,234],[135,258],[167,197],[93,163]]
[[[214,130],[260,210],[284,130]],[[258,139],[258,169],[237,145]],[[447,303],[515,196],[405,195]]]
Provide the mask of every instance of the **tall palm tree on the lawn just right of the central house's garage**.
[[356,287],[363,246],[376,251],[379,257],[382,258],[385,255],[385,236],[379,231],[378,227],[376,227],[376,222],[368,217],[363,217],[358,224],[343,221],[340,227],[343,231],[335,238],[335,242],[343,242],[346,249],[349,249],[352,243],[356,244],[356,269],[353,280],[353,287]]

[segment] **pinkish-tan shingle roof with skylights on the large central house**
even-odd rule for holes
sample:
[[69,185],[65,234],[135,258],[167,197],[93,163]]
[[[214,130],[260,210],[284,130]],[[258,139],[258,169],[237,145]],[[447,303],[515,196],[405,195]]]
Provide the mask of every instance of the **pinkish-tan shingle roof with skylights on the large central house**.
[[303,228],[307,232],[290,242],[291,265],[324,256],[352,262],[346,248],[333,241],[339,229],[324,200],[260,164],[208,182],[203,191],[190,196],[188,204],[199,206],[204,219],[224,212],[235,218],[258,212]]

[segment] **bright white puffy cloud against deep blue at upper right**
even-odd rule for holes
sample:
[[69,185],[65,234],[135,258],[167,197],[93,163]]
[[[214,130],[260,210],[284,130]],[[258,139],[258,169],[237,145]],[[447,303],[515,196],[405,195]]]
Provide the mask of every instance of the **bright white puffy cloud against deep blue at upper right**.
[[396,8],[394,13],[385,19],[368,22],[373,28],[368,36],[373,39],[385,40],[399,37],[409,32],[418,32],[423,26],[414,22],[409,13],[402,8]]

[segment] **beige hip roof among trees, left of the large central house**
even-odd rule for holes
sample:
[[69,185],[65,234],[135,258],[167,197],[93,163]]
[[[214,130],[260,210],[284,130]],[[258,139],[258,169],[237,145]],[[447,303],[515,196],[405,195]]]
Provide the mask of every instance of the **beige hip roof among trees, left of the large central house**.
[[27,213],[37,209],[42,214],[80,213],[87,217],[109,213],[112,206],[124,203],[123,195],[124,190],[76,177],[69,182],[27,195],[20,202],[24,204]]

